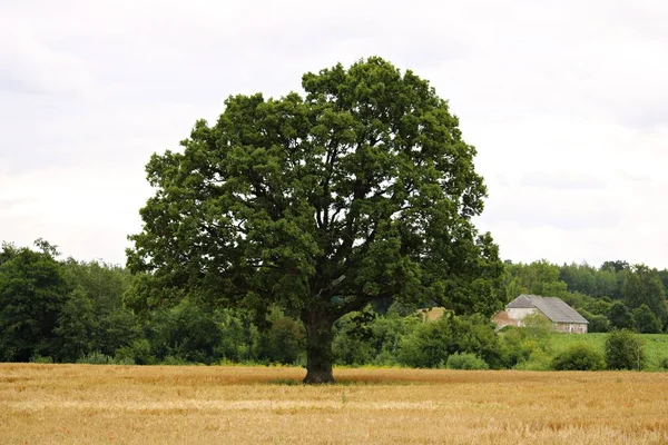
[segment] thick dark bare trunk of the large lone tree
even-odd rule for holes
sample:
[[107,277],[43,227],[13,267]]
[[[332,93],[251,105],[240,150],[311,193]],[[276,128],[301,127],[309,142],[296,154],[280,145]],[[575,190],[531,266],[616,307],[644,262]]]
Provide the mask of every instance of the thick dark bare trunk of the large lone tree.
[[333,322],[322,312],[305,314],[306,325],[306,377],[305,384],[334,383],[332,374]]

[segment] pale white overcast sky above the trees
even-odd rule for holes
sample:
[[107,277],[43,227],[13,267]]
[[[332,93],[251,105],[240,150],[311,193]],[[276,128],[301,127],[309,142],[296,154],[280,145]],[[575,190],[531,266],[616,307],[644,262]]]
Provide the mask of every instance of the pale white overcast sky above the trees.
[[229,95],[381,56],[450,100],[503,258],[668,267],[668,3],[0,0],[0,240],[125,264]]

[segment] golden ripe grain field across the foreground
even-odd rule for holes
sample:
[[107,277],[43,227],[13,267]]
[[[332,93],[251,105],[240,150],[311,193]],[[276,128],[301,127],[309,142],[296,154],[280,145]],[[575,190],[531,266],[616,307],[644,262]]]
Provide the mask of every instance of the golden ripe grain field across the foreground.
[[2,444],[666,444],[668,374],[0,365]]

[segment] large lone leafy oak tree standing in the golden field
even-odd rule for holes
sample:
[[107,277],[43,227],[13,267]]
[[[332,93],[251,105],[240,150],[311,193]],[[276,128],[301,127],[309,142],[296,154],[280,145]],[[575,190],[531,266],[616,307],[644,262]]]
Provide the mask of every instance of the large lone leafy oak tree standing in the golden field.
[[374,57],[302,87],[230,97],[151,157],[128,266],[149,307],[189,295],[298,315],[305,382],[326,383],[342,315],[386,297],[491,314],[503,266],[471,220],[487,192],[475,149],[428,81]]

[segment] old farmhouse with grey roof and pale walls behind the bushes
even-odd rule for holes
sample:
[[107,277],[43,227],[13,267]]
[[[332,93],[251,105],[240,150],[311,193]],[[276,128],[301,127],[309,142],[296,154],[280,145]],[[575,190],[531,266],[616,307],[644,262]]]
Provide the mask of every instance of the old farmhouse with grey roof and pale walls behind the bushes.
[[541,314],[552,322],[559,333],[587,334],[589,322],[560,298],[538,295],[520,295],[505,306],[505,310],[494,316],[499,328],[522,326],[522,320],[531,314]]

